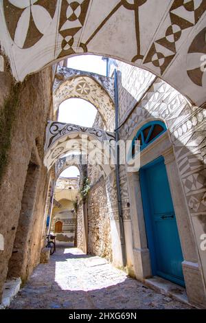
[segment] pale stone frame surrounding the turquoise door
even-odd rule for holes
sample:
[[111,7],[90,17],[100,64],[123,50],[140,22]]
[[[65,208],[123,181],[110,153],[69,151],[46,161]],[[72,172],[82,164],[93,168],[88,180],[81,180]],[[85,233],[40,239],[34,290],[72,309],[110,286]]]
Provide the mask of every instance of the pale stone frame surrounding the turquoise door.
[[[145,120],[146,122],[147,120]],[[141,124],[142,125],[142,124]],[[137,131],[137,129],[136,129]],[[132,136],[128,140],[132,140]],[[160,156],[164,157],[165,167],[170,185],[172,203],[176,214],[176,224],[183,252],[183,276],[189,299],[194,298],[196,291],[200,293],[198,286],[202,284],[202,273],[198,264],[198,253],[196,239],[192,230],[190,212],[187,208],[187,201],[184,194],[179,168],[176,164],[170,134],[165,131],[157,140],[152,142],[140,152],[140,167],[149,164]],[[135,158],[139,156],[136,155]],[[138,165],[138,162],[137,162]],[[148,248],[144,210],[141,199],[141,188],[139,182],[139,171],[127,172],[128,195],[130,201],[130,216],[133,228],[133,257],[135,276],[138,280],[144,281],[152,277],[151,250]],[[197,283],[198,282],[198,283]]]

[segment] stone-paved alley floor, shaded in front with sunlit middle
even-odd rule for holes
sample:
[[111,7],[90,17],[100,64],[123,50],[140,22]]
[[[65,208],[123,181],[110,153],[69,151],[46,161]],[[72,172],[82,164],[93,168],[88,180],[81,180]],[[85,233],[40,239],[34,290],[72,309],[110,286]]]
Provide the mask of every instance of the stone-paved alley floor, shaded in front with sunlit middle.
[[10,309],[190,309],[126,276],[104,258],[58,248],[40,264]]

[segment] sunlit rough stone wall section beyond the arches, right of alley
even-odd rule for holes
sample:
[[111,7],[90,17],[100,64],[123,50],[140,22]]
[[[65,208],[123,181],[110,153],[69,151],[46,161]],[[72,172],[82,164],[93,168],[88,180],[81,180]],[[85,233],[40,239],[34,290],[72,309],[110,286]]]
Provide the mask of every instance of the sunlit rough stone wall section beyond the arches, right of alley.
[[89,192],[88,252],[112,260],[111,228],[103,177]]

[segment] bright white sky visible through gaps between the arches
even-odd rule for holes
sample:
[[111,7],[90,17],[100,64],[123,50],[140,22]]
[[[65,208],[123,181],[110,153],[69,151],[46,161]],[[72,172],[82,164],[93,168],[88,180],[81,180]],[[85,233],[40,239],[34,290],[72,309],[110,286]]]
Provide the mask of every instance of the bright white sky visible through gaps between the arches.
[[[106,62],[102,60],[102,56],[74,56],[68,58],[67,67],[106,75]],[[80,126],[92,126],[96,113],[97,110],[91,103],[73,98],[60,104],[58,121],[79,124]],[[77,175],[79,175],[78,168],[71,166],[64,170],[60,176],[76,177]]]

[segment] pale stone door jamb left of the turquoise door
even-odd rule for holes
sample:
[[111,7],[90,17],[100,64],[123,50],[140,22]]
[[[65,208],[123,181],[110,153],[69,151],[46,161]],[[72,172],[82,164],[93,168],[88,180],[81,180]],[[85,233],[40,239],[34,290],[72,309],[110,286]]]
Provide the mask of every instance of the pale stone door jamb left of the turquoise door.
[[139,172],[128,172],[130,216],[133,223],[133,254],[135,276],[144,280],[151,276],[150,252],[148,249],[144,212],[141,201]]

